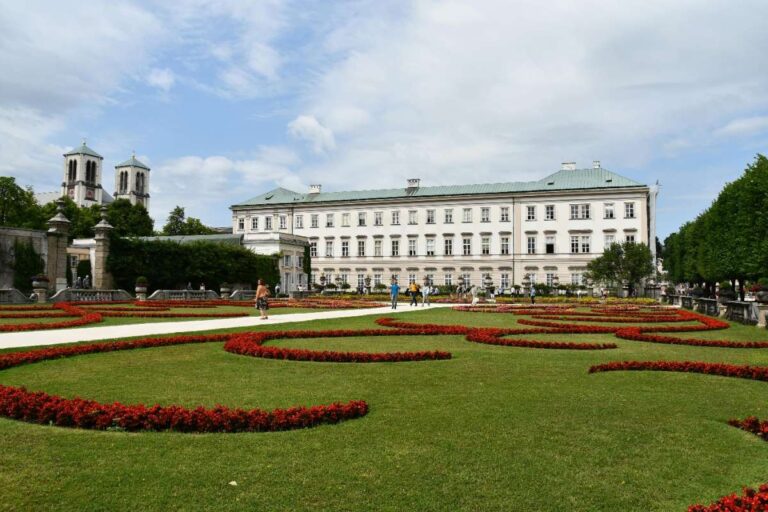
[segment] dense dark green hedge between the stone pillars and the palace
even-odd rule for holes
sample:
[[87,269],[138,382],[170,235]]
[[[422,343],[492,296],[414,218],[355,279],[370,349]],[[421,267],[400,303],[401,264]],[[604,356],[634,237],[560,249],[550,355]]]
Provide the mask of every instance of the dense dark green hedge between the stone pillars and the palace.
[[209,288],[220,283],[267,284],[279,281],[276,256],[262,256],[239,245],[213,242],[180,244],[170,241],[112,237],[107,268],[118,288],[133,289],[145,276],[152,289],[179,289],[202,282]]

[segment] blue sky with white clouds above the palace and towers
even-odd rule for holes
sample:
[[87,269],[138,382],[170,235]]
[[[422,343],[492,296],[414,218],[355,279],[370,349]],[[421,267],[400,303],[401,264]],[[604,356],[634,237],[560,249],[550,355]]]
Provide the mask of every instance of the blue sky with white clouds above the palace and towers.
[[661,186],[663,239],[768,151],[768,2],[5,2],[0,175],[58,190],[83,138],[103,185],[152,168],[176,206],[538,180],[575,161]]

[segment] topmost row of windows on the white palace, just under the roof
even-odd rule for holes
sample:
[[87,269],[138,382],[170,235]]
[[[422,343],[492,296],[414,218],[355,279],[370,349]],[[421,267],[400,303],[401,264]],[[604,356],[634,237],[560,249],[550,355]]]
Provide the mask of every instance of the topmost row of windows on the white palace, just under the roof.
[[[570,205],[570,211],[571,211],[571,219],[591,219],[591,208],[589,203],[583,203],[583,204],[571,204]],[[445,208],[443,210],[443,224],[453,224],[454,222],[454,215],[453,215],[454,209],[453,208]],[[408,210],[408,224],[409,225],[416,225],[419,224],[419,210]],[[437,218],[437,210],[426,210],[426,223],[427,224],[436,224],[436,218]],[[605,219],[614,219],[615,217],[615,207],[613,203],[604,203],[603,204],[603,218]],[[634,219],[635,218],[635,203],[634,202],[627,202],[624,203],[624,218],[625,219]],[[285,215],[278,216],[280,228],[279,229],[286,229],[287,223],[288,223],[288,217]],[[499,222],[509,222],[509,207],[508,206],[501,206],[499,207]],[[537,219],[537,207],[536,206],[527,206],[526,207],[526,220],[533,221]],[[548,204],[544,205],[544,219],[545,220],[555,220],[555,205]],[[336,226],[336,214],[335,213],[326,213],[325,214],[325,227],[326,228],[333,228]],[[368,212],[358,212],[357,213],[357,226],[359,227],[366,227],[368,225]],[[472,208],[461,208],[461,222],[467,223],[472,222]],[[491,208],[490,207],[482,207],[480,208],[480,222],[491,222]],[[352,225],[352,214],[350,213],[342,213],[341,214],[341,227],[350,227]],[[384,225],[384,212],[373,212],[373,225],[374,226],[383,226]],[[399,226],[400,225],[400,210],[392,210],[390,212],[390,225],[391,226]],[[294,218],[294,227],[296,229],[303,229],[304,228],[304,215],[299,214],[296,215]],[[320,227],[320,214],[319,213],[312,213],[309,215],[309,227],[310,228],[319,228]],[[245,229],[245,219],[239,219],[238,220],[238,228],[239,229]],[[259,218],[258,217],[252,217],[251,218],[251,230],[258,230],[259,229]],[[272,230],[272,217],[264,217],[264,227],[263,229],[265,231]]]

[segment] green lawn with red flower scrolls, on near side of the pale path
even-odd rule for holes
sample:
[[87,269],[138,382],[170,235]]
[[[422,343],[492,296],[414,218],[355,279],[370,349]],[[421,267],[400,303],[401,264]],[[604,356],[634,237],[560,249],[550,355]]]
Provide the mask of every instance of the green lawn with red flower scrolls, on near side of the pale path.
[[[374,327],[374,318],[264,328],[358,329]],[[510,327],[519,317],[420,308],[399,318]],[[737,324],[681,336],[768,340],[768,332]],[[768,481],[768,443],[725,424],[768,417],[768,383],[587,373],[593,364],[627,359],[766,365],[768,350],[612,335],[538,339],[619,348],[536,350],[463,336],[331,338],[274,343],[443,349],[454,358],[291,362],[208,343],[5,370],[2,384],[105,402],[274,408],[363,399],[371,412],[339,425],[266,434],[92,432],[0,419],[0,510],[682,511]]]

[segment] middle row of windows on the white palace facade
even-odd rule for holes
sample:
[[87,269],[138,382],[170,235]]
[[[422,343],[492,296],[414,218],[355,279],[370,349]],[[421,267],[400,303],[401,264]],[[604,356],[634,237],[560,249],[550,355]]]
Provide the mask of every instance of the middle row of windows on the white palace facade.
[[[507,256],[510,254],[510,237],[508,236],[502,236],[499,237],[499,254],[502,256]],[[634,242],[635,241],[635,235],[628,234],[626,235],[626,241],[627,242]],[[402,247],[400,246],[400,240],[399,239],[393,239],[389,241],[389,256],[421,256],[418,250],[418,240],[415,238],[410,238],[407,240],[407,246]],[[555,254],[557,251],[555,249],[555,236],[554,235],[547,235],[544,239],[544,254]],[[616,236],[614,234],[606,234],[604,239],[604,247],[609,247],[612,243],[616,242]],[[425,256],[435,256],[436,255],[436,245],[437,242],[434,238],[427,238],[425,241]],[[589,253],[591,252],[591,246],[592,246],[592,236],[591,235],[572,235],[571,236],[571,253],[577,254],[577,253]],[[334,240],[326,240],[325,241],[325,252],[323,256],[326,258],[332,258],[334,257],[334,249],[336,247],[336,242]],[[368,253],[368,241],[367,240],[357,240],[357,253],[355,254],[358,257],[365,257],[365,256],[384,256],[384,241],[383,240],[374,240],[373,241],[373,254]],[[535,235],[528,236],[527,239],[527,253],[528,254],[539,254],[539,247],[538,247],[538,237]],[[405,252],[401,254],[401,249],[406,249]],[[454,254],[461,254],[462,256],[472,256],[472,238],[471,237],[463,237],[461,239],[461,245],[458,247],[458,250],[460,253],[454,252],[454,239],[453,237],[445,237],[443,239],[443,252],[442,256],[453,256]],[[317,257],[318,256],[318,242],[313,240],[310,242],[309,245],[309,252],[310,256]],[[481,255],[490,255],[491,254],[491,237],[490,236],[483,236],[480,238],[480,254]],[[351,256],[350,253],[350,241],[349,240],[342,240],[341,241],[341,253],[339,254],[341,257],[346,258]]]

